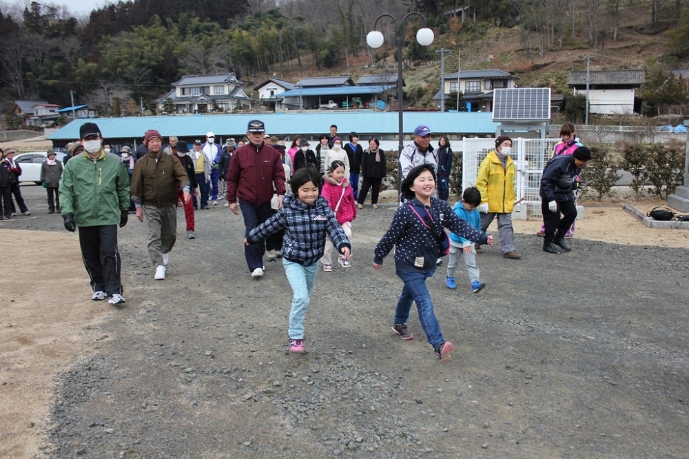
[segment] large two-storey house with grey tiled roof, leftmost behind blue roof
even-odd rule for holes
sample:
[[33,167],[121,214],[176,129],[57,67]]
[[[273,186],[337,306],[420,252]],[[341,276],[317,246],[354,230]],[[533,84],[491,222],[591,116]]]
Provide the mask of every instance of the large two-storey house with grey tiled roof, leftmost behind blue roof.
[[[156,99],[160,112],[208,113],[227,112],[249,105],[251,98],[242,89],[244,83],[234,73],[185,75],[172,90]],[[174,112],[171,110],[174,105]]]

